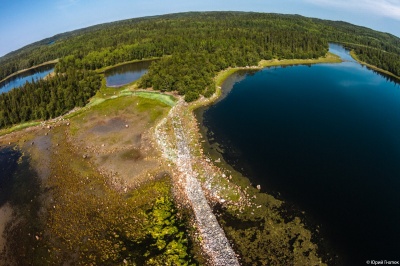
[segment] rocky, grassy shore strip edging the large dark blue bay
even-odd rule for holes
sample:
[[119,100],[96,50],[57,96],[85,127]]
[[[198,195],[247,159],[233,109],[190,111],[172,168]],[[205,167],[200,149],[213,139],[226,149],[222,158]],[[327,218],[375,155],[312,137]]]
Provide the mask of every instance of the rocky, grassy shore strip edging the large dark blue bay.
[[[191,115],[194,117],[195,121],[197,122],[196,128],[191,128],[188,127],[188,131],[191,132],[192,135],[197,136],[195,137],[192,142],[194,144],[191,145],[191,148],[193,149],[193,153],[197,153],[199,159],[198,160],[203,160],[208,164],[211,164],[213,167],[217,168],[220,173],[225,173],[223,174],[226,176],[226,179],[229,183],[231,183],[233,186],[236,186],[235,190],[239,192],[239,194],[242,195],[241,199],[239,199],[239,202],[235,202],[235,200],[225,200],[225,198],[221,197],[222,202],[219,198],[214,198],[214,204],[215,206],[220,206],[217,208],[218,210],[217,213],[218,216],[218,221],[219,223],[226,223],[227,220],[224,220],[222,218],[225,214],[231,215],[234,214],[236,217],[235,219],[238,219],[238,221],[241,221],[242,219],[247,220],[251,219],[249,217],[254,217],[256,215],[256,212],[259,212],[259,217],[263,217],[263,215],[266,215],[266,213],[271,211],[271,207],[268,206],[281,206],[283,208],[286,208],[286,202],[283,201],[280,198],[276,198],[272,194],[269,194],[268,192],[262,191],[257,188],[257,184],[253,184],[251,180],[246,177],[244,174],[241,172],[237,171],[234,169],[232,165],[227,163],[224,159],[222,154],[213,148],[209,141],[207,140],[207,136],[205,135],[205,129],[204,126],[202,125],[201,118],[199,118],[198,113],[196,111],[199,111],[198,109],[203,109],[206,108],[208,105],[214,104],[215,102],[221,100],[221,97],[225,96],[225,92],[223,92],[222,85],[223,83],[231,77],[233,74],[235,74],[238,71],[243,71],[243,70],[261,70],[266,67],[280,67],[280,66],[292,66],[292,65],[310,65],[310,64],[319,64],[319,63],[341,63],[343,60],[332,53],[328,53],[327,56],[318,58],[318,59],[297,59],[297,60],[268,60],[268,61],[260,61],[258,66],[249,66],[249,67],[236,67],[236,68],[228,68],[223,71],[220,71],[214,78],[215,83],[216,83],[216,92],[214,95],[208,99],[201,97],[199,100],[190,103],[188,106],[188,111],[191,113]],[[200,111],[201,112],[201,111]],[[196,143],[197,145],[200,144],[200,148],[196,148]],[[197,150],[196,150],[197,149]],[[207,183],[207,182],[206,182]],[[205,193],[210,196],[210,194],[213,194],[212,191],[207,191],[207,187],[203,184],[203,189],[205,190]],[[218,183],[217,180],[217,185],[216,187],[223,187]],[[214,192],[214,194],[219,194],[221,192]],[[210,199],[212,201],[212,199]],[[286,207],[284,207],[286,206]],[[280,207],[279,207],[280,208]],[[225,210],[224,210],[225,209]],[[255,211],[256,210],[256,211]],[[215,211],[215,210],[214,210]],[[250,212],[250,215],[248,214]],[[253,213],[254,212],[254,213]],[[224,214],[225,213],[225,214]],[[308,220],[305,218],[304,213],[301,212],[299,209],[293,209],[290,212],[291,214],[286,214],[288,217],[300,217],[298,219],[299,221],[301,220],[300,225],[296,224],[294,225],[293,228],[297,228],[297,230],[304,230],[304,232],[309,232],[310,235],[312,235],[313,241],[311,241],[311,238],[309,239],[309,243],[311,245],[315,245],[315,248],[313,249],[312,254],[310,259],[311,261],[318,261],[320,264],[324,263],[329,263],[332,262],[332,260],[335,260],[333,257],[329,255],[330,252],[327,253],[326,250],[330,250],[330,243],[322,243],[321,240],[316,240],[318,238],[318,235],[320,234],[319,226],[314,223],[313,220]],[[267,214],[268,215],[268,214]],[[276,215],[276,213],[272,214]],[[284,215],[284,214],[279,214],[279,215]],[[283,217],[283,216],[282,216]],[[255,217],[254,217],[255,218]],[[221,224],[221,225],[222,225]],[[285,225],[278,225],[284,227]],[[228,230],[227,228],[223,228],[224,231]],[[226,235],[230,242],[234,243],[234,248],[235,252],[238,253],[240,249],[238,249],[238,245],[235,243],[235,237],[232,234],[235,234],[236,232],[226,231]],[[302,233],[302,234],[303,234]],[[317,238],[315,238],[317,237]],[[241,250],[243,251],[243,250]],[[315,252],[315,253],[314,253]],[[242,255],[242,254],[238,254]],[[306,258],[304,258],[307,260]]]

